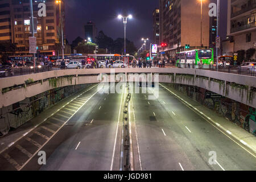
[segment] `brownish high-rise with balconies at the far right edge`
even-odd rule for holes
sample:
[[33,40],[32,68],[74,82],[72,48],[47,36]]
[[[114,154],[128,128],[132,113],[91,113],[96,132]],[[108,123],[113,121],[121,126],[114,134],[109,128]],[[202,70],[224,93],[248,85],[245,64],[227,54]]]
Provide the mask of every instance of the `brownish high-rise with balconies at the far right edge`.
[[[233,52],[256,48],[256,1],[228,0],[227,34],[232,37]],[[225,48],[224,48],[225,49]],[[224,50],[224,52],[230,52]],[[255,59],[255,55],[252,57]]]

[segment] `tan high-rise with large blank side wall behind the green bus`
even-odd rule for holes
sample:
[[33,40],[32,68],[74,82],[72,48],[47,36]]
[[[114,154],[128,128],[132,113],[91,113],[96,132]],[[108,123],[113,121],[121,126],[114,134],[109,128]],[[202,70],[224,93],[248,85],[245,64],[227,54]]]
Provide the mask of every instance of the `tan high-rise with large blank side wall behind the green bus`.
[[[201,32],[200,1],[160,0],[160,44],[167,46],[160,49],[171,57],[176,52],[190,48],[209,47],[209,4],[203,3],[203,20]],[[202,44],[201,47],[201,33]]]

